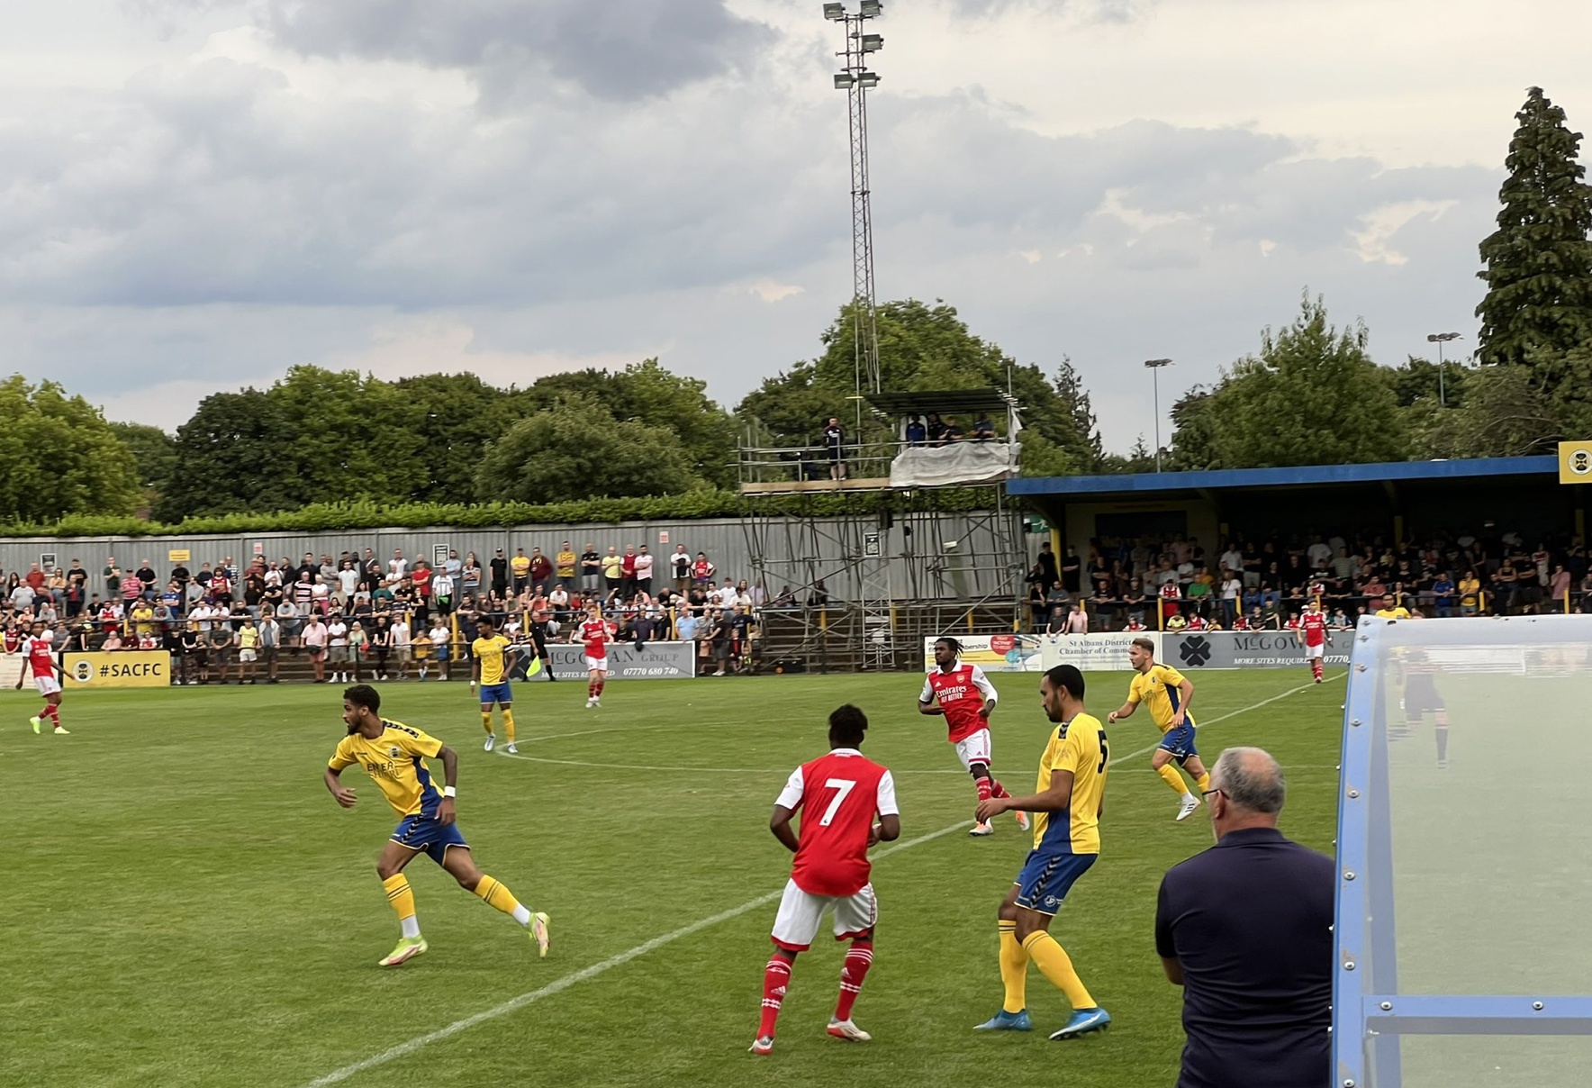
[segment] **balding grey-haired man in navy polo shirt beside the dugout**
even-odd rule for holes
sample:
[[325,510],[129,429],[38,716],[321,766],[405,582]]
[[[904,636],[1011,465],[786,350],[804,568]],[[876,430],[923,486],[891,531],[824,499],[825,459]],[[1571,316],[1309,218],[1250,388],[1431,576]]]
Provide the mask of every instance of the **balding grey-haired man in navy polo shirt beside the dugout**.
[[1156,951],[1183,986],[1178,1088],[1320,1088],[1333,1070],[1333,859],[1277,830],[1283,769],[1227,749],[1210,771],[1216,846],[1172,868]]

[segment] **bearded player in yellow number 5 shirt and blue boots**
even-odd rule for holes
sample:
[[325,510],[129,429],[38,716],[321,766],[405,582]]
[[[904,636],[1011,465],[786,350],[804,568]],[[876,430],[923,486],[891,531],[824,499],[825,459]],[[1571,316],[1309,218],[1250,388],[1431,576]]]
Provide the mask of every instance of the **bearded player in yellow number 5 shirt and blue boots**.
[[1100,814],[1110,763],[1105,726],[1084,712],[1084,674],[1059,664],[1040,680],[1044,717],[1055,723],[1040,760],[1040,782],[1032,796],[990,796],[979,801],[977,820],[1001,812],[1033,812],[1033,851],[1000,905],[1000,976],[1006,986],[1001,1010],[976,1031],[1032,1031],[1027,986],[1028,961],[1067,994],[1073,1015],[1051,1039],[1076,1039],[1100,1031],[1111,1015],[1095,1004],[1067,951],[1051,937],[1051,921],[1073,883],[1100,857]]

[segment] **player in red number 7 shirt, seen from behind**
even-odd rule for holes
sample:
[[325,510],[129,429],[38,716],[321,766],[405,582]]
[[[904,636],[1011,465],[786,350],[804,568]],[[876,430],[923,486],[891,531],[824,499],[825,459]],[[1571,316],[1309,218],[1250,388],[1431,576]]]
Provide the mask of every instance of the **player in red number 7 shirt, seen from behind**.
[[[796,954],[812,946],[818,922],[834,908],[834,940],[850,940],[841,969],[841,999],[829,1018],[829,1034],[847,1042],[868,1042],[852,1023],[852,1005],[874,962],[874,922],[879,903],[868,881],[872,868],[868,847],[901,836],[901,816],[890,771],[863,758],[858,750],[868,733],[868,715],[842,706],[829,715],[829,753],[796,768],[780,800],[774,803],[769,830],[796,854],[790,881],[774,918],[774,956],[763,970],[763,1020],[751,1053],[774,1051],[774,1021],[790,986]],[[791,817],[801,812],[801,833]],[[874,824],[874,812],[879,824]]]

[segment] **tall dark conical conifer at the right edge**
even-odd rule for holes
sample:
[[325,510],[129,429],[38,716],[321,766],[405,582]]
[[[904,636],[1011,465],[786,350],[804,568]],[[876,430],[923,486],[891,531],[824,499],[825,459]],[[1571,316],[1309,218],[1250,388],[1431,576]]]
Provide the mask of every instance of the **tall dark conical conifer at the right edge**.
[[1527,92],[1498,191],[1498,229],[1481,244],[1487,295],[1477,360],[1532,365],[1538,390],[1565,381],[1563,352],[1592,344],[1592,186],[1578,162],[1581,134],[1541,88]]

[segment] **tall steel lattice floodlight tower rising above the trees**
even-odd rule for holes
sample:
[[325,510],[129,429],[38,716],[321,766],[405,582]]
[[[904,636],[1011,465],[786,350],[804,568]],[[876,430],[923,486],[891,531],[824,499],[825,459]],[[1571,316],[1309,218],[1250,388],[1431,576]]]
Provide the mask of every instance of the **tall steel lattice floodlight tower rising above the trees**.
[[[856,355],[856,393],[879,392],[879,328],[874,320],[874,210],[868,185],[868,92],[879,86],[879,73],[868,68],[868,54],[879,53],[885,40],[868,33],[868,21],[884,16],[880,0],[861,0],[856,14],[844,3],[823,5],[823,18],[845,29],[844,70],[834,88],[845,91],[852,137],[852,333]],[[858,419],[861,401],[858,400]]]

